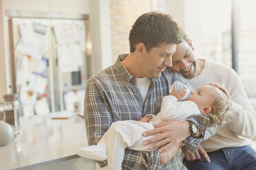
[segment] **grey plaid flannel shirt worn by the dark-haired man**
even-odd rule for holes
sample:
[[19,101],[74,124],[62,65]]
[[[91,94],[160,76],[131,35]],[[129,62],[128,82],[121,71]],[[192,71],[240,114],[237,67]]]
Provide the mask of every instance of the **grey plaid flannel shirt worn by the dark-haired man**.
[[[158,114],[162,104],[162,97],[169,95],[169,88],[176,80],[189,86],[182,75],[167,68],[162,72],[161,77],[151,80],[147,97],[144,101],[136,84],[136,78],[121,63],[126,56],[118,56],[118,60],[114,65],[90,77],[87,81],[85,123],[89,145],[96,145],[114,121],[138,121],[146,114]],[[206,127],[209,125],[209,118],[198,114],[198,116],[190,117],[189,120],[198,125],[203,138]],[[186,138],[185,145],[189,151],[193,151],[198,147],[202,138]],[[107,161],[98,163],[100,167],[107,165]],[[167,164],[160,166],[158,149],[147,152],[125,149],[122,169],[186,168],[182,164],[180,150]]]

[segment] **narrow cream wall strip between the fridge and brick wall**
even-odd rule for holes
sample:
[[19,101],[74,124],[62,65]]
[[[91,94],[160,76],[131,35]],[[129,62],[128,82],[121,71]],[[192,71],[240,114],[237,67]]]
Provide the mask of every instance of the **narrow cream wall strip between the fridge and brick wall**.
[[109,0],[92,1],[92,75],[112,64]]

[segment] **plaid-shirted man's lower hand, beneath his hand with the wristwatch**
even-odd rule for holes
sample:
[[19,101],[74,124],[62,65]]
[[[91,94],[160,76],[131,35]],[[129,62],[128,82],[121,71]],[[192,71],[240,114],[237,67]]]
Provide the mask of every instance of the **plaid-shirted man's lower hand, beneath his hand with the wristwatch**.
[[160,165],[166,164],[169,160],[175,156],[175,154],[178,152],[178,150],[184,145],[184,143],[178,143],[178,145],[175,145],[168,149],[167,151],[164,151],[160,154]]

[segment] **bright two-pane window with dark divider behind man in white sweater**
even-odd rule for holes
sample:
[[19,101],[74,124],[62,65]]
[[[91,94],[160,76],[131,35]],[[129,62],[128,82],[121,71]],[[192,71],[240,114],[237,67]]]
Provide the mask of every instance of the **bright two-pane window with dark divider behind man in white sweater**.
[[[235,7],[232,5],[235,3]],[[256,6],[255,0],[204,0],[201,1],[202,55],[226,66],[232,65],[231,42],[237,40],[238,57],[235,71],[241,77],[244,90],[256,109]],[[234,21],[231,25],[231,10]],[[237,33],[231,38],[231,28]]]

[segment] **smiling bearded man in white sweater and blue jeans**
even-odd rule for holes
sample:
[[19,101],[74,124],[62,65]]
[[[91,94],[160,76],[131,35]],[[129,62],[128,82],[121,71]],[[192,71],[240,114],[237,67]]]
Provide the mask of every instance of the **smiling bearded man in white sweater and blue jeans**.
[[256,169],[256,152],[250,147],[251,138],[256,135],[256,112],[248,101],[239,75],[227,66],[196,59],[191,40],[183,31],[182,37],[173,54],[171,69],[182,73],[193,90],[209,82],[223,84],[223,90],[232,100],[232,116],[228,123],[203,141],[194,154],[182,148],[186,156],[184,164],[188,169]]

